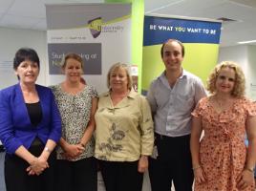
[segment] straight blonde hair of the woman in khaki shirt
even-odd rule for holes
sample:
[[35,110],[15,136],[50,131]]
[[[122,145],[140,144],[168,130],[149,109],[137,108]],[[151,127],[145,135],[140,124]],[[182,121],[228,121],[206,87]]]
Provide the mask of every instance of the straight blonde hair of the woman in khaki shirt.
[[111,89],[110,87],[110,77],[111,74],[116,71],[117,69],[124,69],[126,74],[127,74],[127,79],[128,79],[128,84],[127,84],[127,88],[129,90],[132,89],[133,86],[133,80],[132,80],[132,75],[130,74],[130,66],[124,63],[120,63],[117,62],[116,64],[112,65],[111,68],[109,69],[108,75],[107,75],[107,86],[109,89]]

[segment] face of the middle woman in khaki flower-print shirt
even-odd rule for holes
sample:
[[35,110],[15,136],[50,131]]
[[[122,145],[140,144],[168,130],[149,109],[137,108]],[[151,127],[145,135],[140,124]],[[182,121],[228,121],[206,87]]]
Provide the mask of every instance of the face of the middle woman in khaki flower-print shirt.
[[118,67],[110,73],[110,87],[113,91],[128,90],[128,75],[124,68]]

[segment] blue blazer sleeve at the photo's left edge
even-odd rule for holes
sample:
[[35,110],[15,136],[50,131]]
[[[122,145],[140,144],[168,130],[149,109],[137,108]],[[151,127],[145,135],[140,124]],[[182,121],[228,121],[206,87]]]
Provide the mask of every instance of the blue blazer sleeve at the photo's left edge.
[[12,124],[10,97],[0,91],[0,139],[5,146],[7,153],[13,154],[22,145],[22,142],[15,138],[15,129]]

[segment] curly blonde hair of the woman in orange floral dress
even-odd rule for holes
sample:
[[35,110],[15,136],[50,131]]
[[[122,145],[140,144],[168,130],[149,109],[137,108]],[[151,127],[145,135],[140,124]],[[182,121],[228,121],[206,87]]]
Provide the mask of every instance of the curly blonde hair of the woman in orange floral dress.
[[213,69],[207,80],[206,89],[209,93],[216,93],[216,80],[223,68],[230,68],[235,72],[235,84],[231,95],[236,97],[245,96],[245,74],[241,67],[233,61],[223,61]]

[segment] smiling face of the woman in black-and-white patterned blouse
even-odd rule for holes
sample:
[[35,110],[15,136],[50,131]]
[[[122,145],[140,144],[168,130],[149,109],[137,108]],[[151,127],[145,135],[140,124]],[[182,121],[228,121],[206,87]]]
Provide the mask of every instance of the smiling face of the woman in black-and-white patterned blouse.
[[68,81],[73,83],[78,82],[83,73],[82,64],[74,58],[68,58],[63,71]]

